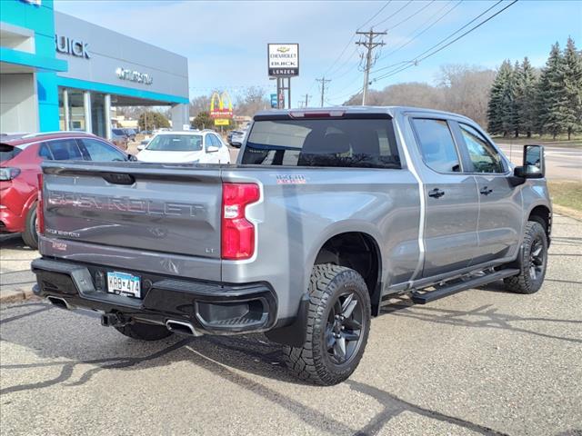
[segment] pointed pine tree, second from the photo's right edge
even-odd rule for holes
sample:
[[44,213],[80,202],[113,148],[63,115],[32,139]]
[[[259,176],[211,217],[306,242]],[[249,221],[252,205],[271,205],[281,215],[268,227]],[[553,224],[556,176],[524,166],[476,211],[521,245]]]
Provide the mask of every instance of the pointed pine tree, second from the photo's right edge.
[[564,58],[559,45],[552,45],[546,66],[539,80],[538,131],[540,134],[557,135],[567,130],[567,93],[564,87]]

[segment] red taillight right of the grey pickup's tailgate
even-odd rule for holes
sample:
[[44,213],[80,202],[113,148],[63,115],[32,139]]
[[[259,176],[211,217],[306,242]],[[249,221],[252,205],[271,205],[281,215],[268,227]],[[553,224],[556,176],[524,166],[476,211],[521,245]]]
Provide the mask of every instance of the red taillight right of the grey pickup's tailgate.
[[222,184],[223,259],[249,259],[255,253],[255,225],[246,219],[246,206],[259,198],[255,183]]

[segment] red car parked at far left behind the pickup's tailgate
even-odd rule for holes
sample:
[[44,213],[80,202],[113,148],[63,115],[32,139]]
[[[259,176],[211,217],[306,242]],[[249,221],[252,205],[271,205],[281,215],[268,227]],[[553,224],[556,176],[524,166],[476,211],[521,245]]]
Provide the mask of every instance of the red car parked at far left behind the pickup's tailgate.
[[22,233],[36,248],[38,174],[44,160],[133,161],[93,134],[58,132],[0,135],[0,233]]

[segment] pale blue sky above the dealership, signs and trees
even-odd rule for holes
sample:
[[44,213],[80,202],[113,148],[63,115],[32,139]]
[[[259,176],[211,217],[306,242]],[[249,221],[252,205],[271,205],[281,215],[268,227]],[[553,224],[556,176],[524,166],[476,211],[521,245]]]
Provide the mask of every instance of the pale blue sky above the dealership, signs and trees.
[[[327,92],[331,104],[342,103],[347,95],[361,88],[364,79],[357,68],[356,39],[350,40],[356,29],[383,6],[386,5],[362,28],[368,30],[375,25],[376,31],[388,32],[371,78],[380,76],[374,71],[386,65],[414,59],[497,2],[457,3],[458,0],[392,0],[388,5],[386,0],[55,0],[55,9],[186,56],[191,97],[225,88],[236,95],[246,86],[262,86],[267,94],[275,92],[275,82],[266,76],[266,44],[298,43],[300,76],[292,79],[292,103],[296,105],[308,93],[312,95],[311,105],[319,101],[315,78],[323,74],[332,79]],[[504,0],[488,15],[509,3]],[[410,15],[413,16],[399,24]],[[413,38],[441,15],[444,16],[440,21],[423,35]],[[386,21],[376,25],[383,20]],[[532,64],[543,66],[550,45],[558,41],[564,46],[568,35],[575,39],[578,49],[582,48],[582,1],[520,0],[457,43],[402,73],[376,81],[372,88],[410,81],[433,84],[442,64],[495,68],[504,59],[522,59],[527,55]],[[346,46],[344,55],[334,65]]]

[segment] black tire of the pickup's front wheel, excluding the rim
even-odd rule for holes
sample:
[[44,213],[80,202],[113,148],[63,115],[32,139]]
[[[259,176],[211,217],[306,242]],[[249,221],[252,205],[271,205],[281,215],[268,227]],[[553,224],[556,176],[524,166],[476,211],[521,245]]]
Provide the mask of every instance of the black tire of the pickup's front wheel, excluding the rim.
[[[503,281],[507,291],[517,293],[535,293],[539,291],[544,282],[547,269],[547,235],[542,224],[535,221],[528,221],[525,227],[523,249],[520,258],[517,259],[517,265],[520,272],[517,275],[507,277]],[[532,246],[536,243],[541,243],[543,264],[542,271],[539,272],[534,280],[530,274],[530,267],[532,266]]]

